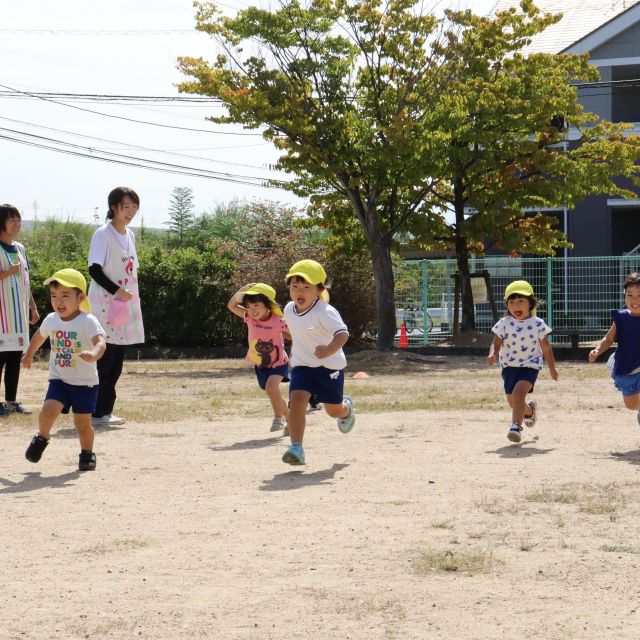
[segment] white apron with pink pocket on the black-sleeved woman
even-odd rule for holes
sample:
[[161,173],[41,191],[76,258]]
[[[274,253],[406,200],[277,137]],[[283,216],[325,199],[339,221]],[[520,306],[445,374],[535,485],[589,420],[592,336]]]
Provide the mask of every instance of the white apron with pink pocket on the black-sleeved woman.
[[126,303],[128,317],[122,321],[121,310],[118,310],[118,314],[114,315],[112,307],[114,296],[103,289],[95,280],[92,280],[89,285],[89,302],[91,302],[93,315],[98,318],[107,333],[107,342],[110,344],[139,344],[144,342],[144,325],[142,324],[138,292],[136,255],[129,237],[130,232],[127,230],[127,248],[123,249],[118,241],[120,234],[111,224],[108,225],[108,228],[111,235],[107,246],[107,262],[102,270],[109,280],[123,289],[128,289],[133,294],[133,298]]

